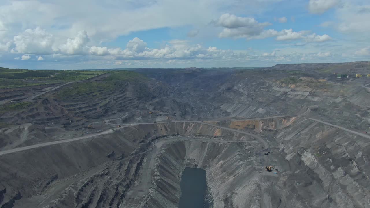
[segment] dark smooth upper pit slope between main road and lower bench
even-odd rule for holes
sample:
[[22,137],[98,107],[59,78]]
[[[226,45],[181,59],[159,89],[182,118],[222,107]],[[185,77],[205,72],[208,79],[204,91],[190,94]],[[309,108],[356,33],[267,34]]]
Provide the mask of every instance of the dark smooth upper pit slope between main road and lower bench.
[[[6,194],[3,194],[4,199],[0,205],[9,201],[18,192],[21,193],[22,198],[38,195],[47,190],[56,180],[63,181],[80,172],[94,170],[94,168],[104,169],[104,167],[114,166],[118,163],[121,164],[120,166],[126,166],[126,168],[120,169],[120,171],[126,172],[127,165],[135,167],[140,163],[139,154],[145,156],[143,152],[149,148],[151,142],[164,135],[175,134],[228,136],[235,140],[252,140],[245,135],[227,131],[221,132],[216,127],[204,124],[175,122],[126,127],[100,137],[1,155],[0,189],[6,189]],[[133,157],[132,155],[139,156]],[[114,171],[116,171],[115,174],[120,174],[117,170]],[[132,174],[135,175],[135,173]],[[103,174],[103,176],[106,175]],[[74,184],[73,187],[78,186],[77,184]],[[68,186],[65,188],[68,189]],[[66,195],[68,196],[68,194]],[[68,197],[60,200],[68,201],[67,199],[70,200]],[[74,199],[70,201],[74,202]],[[77,201],[76,203],[79,203]]]

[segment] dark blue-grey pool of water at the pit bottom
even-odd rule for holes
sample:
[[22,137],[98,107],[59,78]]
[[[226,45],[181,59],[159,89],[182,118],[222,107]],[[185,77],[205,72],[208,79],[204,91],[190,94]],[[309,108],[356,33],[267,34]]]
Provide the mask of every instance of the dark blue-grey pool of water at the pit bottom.
[[179,208],[209,208],[205,200],[207,191],[206,171],[201,168],[185,168],[181,175]]

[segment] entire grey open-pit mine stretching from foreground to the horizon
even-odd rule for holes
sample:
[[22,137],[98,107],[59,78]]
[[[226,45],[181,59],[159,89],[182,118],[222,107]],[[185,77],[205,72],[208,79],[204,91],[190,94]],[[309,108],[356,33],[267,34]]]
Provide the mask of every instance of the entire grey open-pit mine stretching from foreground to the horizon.
[[47,73],[0,88],[0,208],[370,208],[370,62]]

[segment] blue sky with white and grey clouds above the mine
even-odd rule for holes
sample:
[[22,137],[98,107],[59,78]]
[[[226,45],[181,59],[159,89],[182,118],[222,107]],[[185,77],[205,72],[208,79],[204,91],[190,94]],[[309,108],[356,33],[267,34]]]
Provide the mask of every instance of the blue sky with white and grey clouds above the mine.
[[369,20],[369,0],[1,0],[0,67],[366,61]]

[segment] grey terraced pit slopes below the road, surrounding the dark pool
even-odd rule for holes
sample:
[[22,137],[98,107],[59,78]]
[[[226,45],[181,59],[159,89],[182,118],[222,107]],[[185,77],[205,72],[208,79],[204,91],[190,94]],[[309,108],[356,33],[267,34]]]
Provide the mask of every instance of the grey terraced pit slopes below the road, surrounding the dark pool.
[[370,207],[368,139],[294,117],[216,124],[272,152],[205,123],[135,125],[2,155],[0,206],[177,207],[183,170],[199,167],[213,207]]

